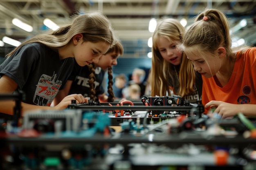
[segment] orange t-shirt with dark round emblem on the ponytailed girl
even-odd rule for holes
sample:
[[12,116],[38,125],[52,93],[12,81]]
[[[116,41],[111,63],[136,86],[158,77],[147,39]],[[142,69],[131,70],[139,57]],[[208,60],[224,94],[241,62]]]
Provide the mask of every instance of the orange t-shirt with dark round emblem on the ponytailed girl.
[[[213,77],[202,76],[202,79],[203,105],[211,100],[232,104],[256,104],[256,48],[248,49],[236,60],[233,73],[224,87],[219,87]],[[207,112],[205,109],[205,113]]]

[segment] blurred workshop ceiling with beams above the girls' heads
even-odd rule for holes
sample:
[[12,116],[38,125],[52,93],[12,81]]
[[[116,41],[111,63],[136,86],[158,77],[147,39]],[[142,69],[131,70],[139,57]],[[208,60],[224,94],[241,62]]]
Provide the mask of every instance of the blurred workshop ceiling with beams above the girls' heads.
[[[216,8],[229,16],[231,27],[246,19],[247,26],[235,35],[247,44],[256,44],[255,7],[256,0],[0,0],[0,40],[3,36],[19,41],[34,36],[43,30],[45,18],[66,24],[75,11],[100,10],[110,19],[124,46],[130,44],[130,49],[125,50],[132,51],[131,44],[148,48],[147,40],[152,36],[148,31],[150,18],[186,18],[189,25],[200,11]],[[13,25],[13,18],[30,24],[34,31],[26,32]],[[150,48],[140,51],[147,53]],[[138,56],[131,54],[130,57]]]

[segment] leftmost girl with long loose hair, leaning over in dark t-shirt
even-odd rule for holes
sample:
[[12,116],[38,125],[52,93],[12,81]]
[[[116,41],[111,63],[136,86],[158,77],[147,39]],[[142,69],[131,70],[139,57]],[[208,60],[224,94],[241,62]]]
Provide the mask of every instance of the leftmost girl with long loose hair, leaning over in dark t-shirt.
[[[114,40],[110,21],[103,13],[77,15],[72,24],[36,35],[7,55],[0,65],[0,94],[22,90],[26,99],[21,103],[21,114],[35,109],[64,109],[72,100],[87,102],[83,95],[72,94],[47,107],[64,87],[74,62],[79,66],[98,62]],[[0,112],[12,115],[14,106],[14,101],[0,101]]]

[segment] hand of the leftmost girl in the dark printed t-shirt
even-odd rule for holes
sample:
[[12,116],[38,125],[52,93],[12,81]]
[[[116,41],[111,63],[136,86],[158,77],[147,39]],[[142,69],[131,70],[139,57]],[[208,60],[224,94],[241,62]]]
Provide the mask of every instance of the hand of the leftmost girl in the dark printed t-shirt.
[[72,100],[76,100],[76,104],[87,103],[88,99],[83,97],[81,94],[72,94],[64,97],[59,104],[54,106],[56,110],[61,110],[67,108],[68,105],[72,103]]

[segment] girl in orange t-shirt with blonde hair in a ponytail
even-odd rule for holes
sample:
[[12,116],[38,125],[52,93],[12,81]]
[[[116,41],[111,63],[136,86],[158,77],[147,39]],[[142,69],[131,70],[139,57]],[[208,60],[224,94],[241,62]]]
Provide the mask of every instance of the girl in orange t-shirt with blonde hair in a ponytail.
[[202,104],[222,118],[256,115],[256,48],[231,49],[229,22],[222,11],[205,9],[186,31],[179,49],[203,79]]

